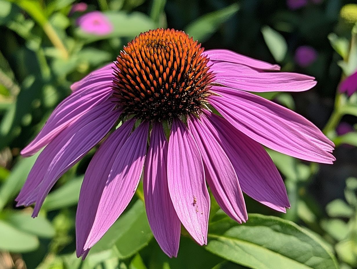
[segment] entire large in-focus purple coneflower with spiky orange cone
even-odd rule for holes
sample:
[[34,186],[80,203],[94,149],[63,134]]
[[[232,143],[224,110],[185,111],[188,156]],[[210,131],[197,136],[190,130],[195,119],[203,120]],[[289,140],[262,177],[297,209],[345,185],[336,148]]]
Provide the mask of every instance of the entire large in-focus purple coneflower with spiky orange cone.
[[142,173],[149,224],[170,257],[177,255],[181,224],[207,244],[208,186],[238,223],[248,218],[243,192],[286,212],[285,185],[262,145],[308,161],[331,164],[335,158],[333,143],[310,121],[250,93],[316,85],[311,76],[279,69],[229,50],[205,51],[182,31],[140,34],[113,64],[73,84],[73,93],[21,151],[30,156],[46,146],[17,205],[36,203],[36,216],[56,180],[120,121],[84,176],[77,256],[86,256],[124,211]]

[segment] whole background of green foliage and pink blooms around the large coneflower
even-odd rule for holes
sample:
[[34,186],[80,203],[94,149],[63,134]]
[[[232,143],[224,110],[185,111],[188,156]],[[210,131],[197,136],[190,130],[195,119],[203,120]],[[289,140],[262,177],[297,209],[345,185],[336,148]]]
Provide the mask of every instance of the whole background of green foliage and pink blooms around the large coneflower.
[[[0,268],[357,268],[356,23],[357,4],[342,0],[0,0]],[[15,208],[37,157],[19,151],[74,81],[157,27],[315,76],[310,91],[261,95],[323,129],[337,161],[317,165],[268,151],[285,178],[287,214],[246,196],[255,214],[238,225],[212,200],[208,245],[183,229],[176,259],[153,240],[139,188],[82,262],[74,254],[75,212],[95,149],[62,176],[36,219],[31,208]]]

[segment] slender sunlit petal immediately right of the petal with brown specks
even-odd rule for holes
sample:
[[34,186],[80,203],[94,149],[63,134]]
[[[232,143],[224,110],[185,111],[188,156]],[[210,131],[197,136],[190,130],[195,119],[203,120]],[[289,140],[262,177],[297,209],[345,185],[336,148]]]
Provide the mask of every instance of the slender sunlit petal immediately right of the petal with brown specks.
[[188,119],[188,128],[202,155],[208,185],[218,205],[239,223],[248,219],[237,174],[215,137],[197,118]]

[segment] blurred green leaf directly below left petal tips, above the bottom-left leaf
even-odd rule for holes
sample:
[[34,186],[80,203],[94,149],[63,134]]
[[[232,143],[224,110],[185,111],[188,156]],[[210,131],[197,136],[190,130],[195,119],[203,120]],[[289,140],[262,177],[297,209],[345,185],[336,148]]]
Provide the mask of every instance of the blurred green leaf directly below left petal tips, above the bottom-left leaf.
[[42,238],[51,238],[55,235],[51,223],[41,215],[32,218],[30,212],[9,210],[1,213],[1,219],[16,229]]

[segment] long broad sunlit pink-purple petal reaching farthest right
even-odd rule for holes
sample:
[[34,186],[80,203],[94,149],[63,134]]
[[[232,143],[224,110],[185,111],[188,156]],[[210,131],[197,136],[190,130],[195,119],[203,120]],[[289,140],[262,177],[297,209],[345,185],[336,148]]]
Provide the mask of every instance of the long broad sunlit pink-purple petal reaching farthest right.
[[332,164],[333,143],[310,121],[260,96],[213,86],[210,103],[235,128],[253,140],[308,161]]

